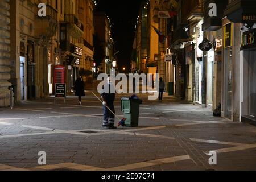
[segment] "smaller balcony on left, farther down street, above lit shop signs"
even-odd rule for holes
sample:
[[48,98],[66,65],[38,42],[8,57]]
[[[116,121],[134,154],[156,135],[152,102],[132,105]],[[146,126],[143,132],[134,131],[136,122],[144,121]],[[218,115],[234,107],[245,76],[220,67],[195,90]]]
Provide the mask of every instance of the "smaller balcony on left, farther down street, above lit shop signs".
[[69,23],[69,35],[79,39],[84,35],[84,24],[73,14],[65,14],[65,22]]

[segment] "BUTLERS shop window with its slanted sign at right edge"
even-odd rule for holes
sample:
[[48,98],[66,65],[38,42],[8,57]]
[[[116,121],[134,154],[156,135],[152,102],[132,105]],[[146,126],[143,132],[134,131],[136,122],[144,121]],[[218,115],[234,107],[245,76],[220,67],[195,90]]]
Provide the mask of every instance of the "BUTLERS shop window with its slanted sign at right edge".
[[241,121],[256,125],[256,28],[243,32],[241,52],[243,52]]

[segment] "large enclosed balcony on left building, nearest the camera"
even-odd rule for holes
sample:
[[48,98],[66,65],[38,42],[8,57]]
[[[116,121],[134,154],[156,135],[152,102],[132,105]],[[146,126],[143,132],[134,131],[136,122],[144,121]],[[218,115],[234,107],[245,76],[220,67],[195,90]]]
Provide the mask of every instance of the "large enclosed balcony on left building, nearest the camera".
[[41,39],[47,39],[55,36],[58,27],[57,10],[47,5],[46,17],[39,17],[37,10],[38,9],[36,9],[35,12],[35,36]]

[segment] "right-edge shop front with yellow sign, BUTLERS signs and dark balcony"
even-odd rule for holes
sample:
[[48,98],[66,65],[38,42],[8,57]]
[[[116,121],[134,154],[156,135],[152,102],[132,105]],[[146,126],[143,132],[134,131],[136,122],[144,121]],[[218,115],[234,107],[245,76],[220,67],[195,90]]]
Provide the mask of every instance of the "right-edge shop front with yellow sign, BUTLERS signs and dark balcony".
[[232,121],[255,121],[255,7],[254,0],[236,0],[224,10],[222,117]]

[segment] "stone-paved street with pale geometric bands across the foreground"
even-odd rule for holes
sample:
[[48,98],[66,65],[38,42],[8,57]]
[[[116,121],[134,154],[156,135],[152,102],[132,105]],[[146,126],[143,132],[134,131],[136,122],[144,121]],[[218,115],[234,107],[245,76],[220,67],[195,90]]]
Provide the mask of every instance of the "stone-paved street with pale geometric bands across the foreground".
[[[96,85],[94,85],[95,88]],[[94,89],[92,88],[92,90]],[[118,95],[115,109],[122,117]],[[0,170],[255,170],[256,128],[165,97],[140,109],[139,127],[103,130],[102,105],[90,93],[25,101],[0,110]],[[47,165],[39,166],[38,152]],[[209,151],[217,165],[209,165]]]

